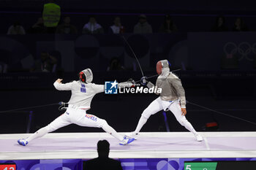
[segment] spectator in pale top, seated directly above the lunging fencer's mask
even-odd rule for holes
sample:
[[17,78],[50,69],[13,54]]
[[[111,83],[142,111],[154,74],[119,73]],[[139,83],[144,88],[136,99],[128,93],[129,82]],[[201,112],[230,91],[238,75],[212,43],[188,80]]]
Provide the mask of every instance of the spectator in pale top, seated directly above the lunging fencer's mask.
[[104,29],[102,26],[97,23],[97,20],[94,16],[89,18],[89,23],[86,23],[83,26],[83,34],[102,34],[104,33]]

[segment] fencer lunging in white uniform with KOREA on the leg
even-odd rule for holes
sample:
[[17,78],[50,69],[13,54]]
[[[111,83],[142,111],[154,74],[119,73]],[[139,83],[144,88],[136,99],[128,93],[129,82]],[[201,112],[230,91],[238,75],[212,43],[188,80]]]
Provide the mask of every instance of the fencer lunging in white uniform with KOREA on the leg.
[[[18,144],[26,146],[32,140],[44,136],[52,131],[75,123],[80,126],[102,128],[108,134],[118,139],[119,144],[125,145],[132,142],[134,139],[124,139],[123,136],[118,134],[106,120],[103,120],[95,115],[90,115],[86,111],[91,108],[91,100],[97,93],[104,92],[104,85],[96,85],[91,83],[93,80],[93,74],[91,69],[85,69],[79,73],[78,81],[61,83],[61,79],[56,80],[53,83],[57,90],[71,90],[72,95],[68,102],[67,111],[63,115],[53,120],[49,125],[40,128],[34,134],[31,134],[27,139],[19,139]],[[118,83],[118,87],[131,87],[132,82]]]

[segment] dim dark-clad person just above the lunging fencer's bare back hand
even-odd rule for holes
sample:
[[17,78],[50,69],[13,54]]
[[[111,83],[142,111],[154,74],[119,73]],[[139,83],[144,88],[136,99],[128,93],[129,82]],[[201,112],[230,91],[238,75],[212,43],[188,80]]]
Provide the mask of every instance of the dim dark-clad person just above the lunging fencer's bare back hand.
[[47,52],[40,54],[40,59],[35,61],[32,72],[53,72],[57,59]]

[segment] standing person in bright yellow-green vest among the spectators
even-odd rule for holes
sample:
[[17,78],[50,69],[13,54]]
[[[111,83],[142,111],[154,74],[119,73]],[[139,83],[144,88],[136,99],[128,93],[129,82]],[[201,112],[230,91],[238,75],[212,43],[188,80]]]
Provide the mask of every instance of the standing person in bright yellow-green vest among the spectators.
[[44,26],[48,34],[54,34],[56,32],[56,26],[58,26],[60,18],[61,7],[55,4],[54,0],[49,0],[42,10],[42,19],[44,20]]

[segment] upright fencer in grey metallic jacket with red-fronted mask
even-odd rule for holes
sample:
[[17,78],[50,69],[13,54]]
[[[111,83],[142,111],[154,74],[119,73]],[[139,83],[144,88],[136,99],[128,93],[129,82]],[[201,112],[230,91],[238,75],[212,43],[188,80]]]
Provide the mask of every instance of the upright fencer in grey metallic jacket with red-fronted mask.
[[191,131],[198,142],[203,141],[202,136],[195,131],[191,123],[189,123],[185,117],[187,114],[185,91],[181,85],[181,80],[170,72],[169,62],[167,60],[157,62],[157,73],[159,77],[157,77],[156,86],[151,82],[147,82],[146,85],[148,88],[162,88],[162,93],[159,93],[159,97],[152,101],[143,111],[135,131],[126,134],[126,136],[128,138],[132,137],[138,139],[140,129],[151,115],[154,115],[162,109],[169,109],[170,112],[173,112],[178,123]]

